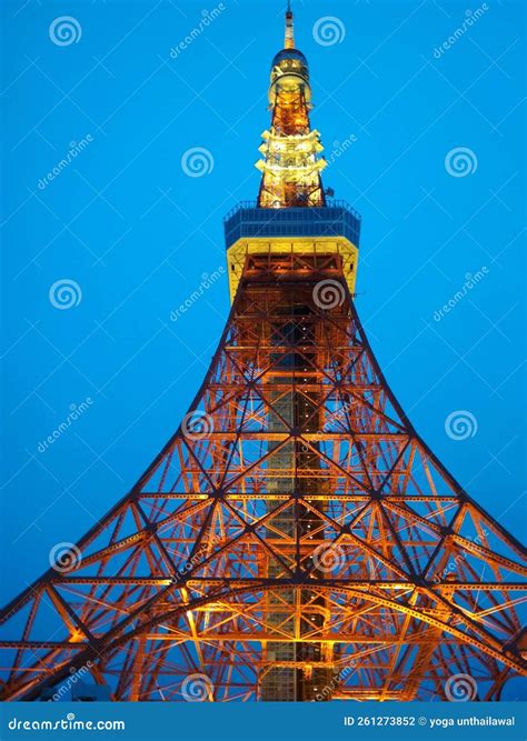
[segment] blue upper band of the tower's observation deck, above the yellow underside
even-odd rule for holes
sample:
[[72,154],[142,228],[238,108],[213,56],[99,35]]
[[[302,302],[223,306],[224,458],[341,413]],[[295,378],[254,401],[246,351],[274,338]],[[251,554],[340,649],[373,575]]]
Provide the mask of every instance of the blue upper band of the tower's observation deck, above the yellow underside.
[[285,209],[262,209],[255,201],[241,201],[223,221],[227,248],[251,237],[346,237],[357,247],[360,239],[360,216],[346,201]]

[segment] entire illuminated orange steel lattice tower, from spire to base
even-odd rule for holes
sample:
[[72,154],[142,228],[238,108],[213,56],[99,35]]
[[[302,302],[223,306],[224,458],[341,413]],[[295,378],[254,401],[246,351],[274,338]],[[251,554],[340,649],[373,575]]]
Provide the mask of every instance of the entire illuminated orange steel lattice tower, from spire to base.
[[417,434],[354,303],[292,14],[232,308],[132,490],[0,613],[6,699],[498,700],[526,672],[525,550]]

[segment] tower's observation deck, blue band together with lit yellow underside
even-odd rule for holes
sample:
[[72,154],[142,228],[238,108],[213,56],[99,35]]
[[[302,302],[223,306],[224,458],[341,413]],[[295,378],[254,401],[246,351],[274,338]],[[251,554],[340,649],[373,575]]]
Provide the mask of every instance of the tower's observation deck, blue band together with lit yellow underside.
[[238,203],[223,220],[230,296],[233,300],[246,257],[256,253],[338,253],[344,277],[355,292],[361,218],[345,201],[326,207],[260,208]]

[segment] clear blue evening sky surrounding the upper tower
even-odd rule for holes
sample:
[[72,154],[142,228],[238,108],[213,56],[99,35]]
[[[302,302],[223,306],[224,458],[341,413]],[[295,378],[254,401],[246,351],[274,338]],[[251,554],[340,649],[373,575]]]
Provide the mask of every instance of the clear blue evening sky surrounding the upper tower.
[[[225,274],[176,322],[170,313],[225,266],[222,217],[256,197],[284,3],[221,4],[171,56],[202,3],[2,3],[6,598],[135,483],[220,337]],[[466,3],[298,1],[296,36],[332,160],[325,184],[364,219],[357,307],[374,351],[420,434],[521,538],[525,19],[519,2],[486,8],[439,56]],[[77,42],[50,38],[62,16]],[[326,16],[339,21],[329,46],[312,32]],[[471,173],[454,177],[446,158],[460,147]],[[208,152],[202,177],[181,164],[193,148]],[[61,280],[77,284],[67,310],[50,301]],[[456,411],[474,417],[474,437],[446,433]]]

